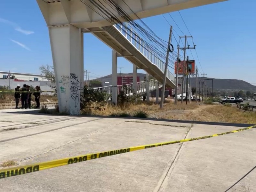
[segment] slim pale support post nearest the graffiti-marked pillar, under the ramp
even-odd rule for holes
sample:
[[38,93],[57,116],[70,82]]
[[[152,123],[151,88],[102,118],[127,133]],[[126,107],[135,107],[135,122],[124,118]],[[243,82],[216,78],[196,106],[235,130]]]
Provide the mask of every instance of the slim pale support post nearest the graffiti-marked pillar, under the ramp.
[[112,103],[117,105],[117,55],[112,51]]

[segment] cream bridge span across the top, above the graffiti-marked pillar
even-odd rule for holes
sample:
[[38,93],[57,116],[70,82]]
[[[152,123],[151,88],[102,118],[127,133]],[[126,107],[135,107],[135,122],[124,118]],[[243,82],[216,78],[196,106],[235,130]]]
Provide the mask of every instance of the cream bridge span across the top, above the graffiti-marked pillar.
[[[151,17],[168,12],[179,11],[206,4],[213,4],[227,0],[120,0],[115,1],[133,20]],[[103,0],[96,0],[105,6],[109,12],[124,22],[113,5]],[[99,15],[101,12],[89,0],[37,0],[48,26],[71,24],[77,28],[104,27],[112,25]],[[103,4],[103,5],[102,5]],[[137,14],[134,15],[134,13]]]

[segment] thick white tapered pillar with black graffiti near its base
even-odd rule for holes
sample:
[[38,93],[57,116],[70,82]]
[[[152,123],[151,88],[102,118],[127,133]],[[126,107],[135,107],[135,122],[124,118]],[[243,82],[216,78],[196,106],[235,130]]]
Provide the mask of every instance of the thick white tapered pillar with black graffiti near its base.
[[49,27],[60,112],[80,114],[83,54],[81,29],[72,25]]

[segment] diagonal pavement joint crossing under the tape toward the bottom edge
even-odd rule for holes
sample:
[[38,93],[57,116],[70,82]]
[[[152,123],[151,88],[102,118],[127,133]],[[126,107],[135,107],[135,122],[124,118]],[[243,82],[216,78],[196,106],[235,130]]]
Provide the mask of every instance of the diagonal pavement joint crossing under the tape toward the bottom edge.
[[[192,127],[188,127],[187,132],[186,132],[186,135],[185,135],[185,137],[184,137],[184,140],[187,138],[188,133],[191,131],[191,129],[192,129]],[[178,159],[177,159],[177,161],[175,161],[175,160],[176,160],[176,158],[177,158],[178,155],[179,155],[179,152],[180,152],[180,150],[181,150],[181,147],[183,146],[183,143],[184,143],[184,142],[180,143],[180,147],[179,147],[178,151],[176,151],[176,154],[175,154],[175,156],[174,156],[174,159],[173,159],[173,160],[171,159],[171,160],[167,163],[166,168],[164,169],[160,180],[157,182],[157,185],[156,185],[156,187],[154,188],[154,190],[153,190],[152,192],[159,192],[159,191],[160,191],[161,187],[163,186],[164,180],[166,179],[168,173],[170,172],[170,170],[171,170],[171,168],[172,168],[172,165],[173,165],[175,162],[178,161]]]

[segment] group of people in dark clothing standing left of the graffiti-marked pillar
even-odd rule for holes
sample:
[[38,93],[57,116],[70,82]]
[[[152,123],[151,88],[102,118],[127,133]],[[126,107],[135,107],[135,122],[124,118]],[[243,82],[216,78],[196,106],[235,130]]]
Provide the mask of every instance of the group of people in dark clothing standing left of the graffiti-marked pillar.
[[[15,101],[16,101],[16,109],[18,109],[19,101],[21,98],[21,108],[22,109],[28,109],[31,108],[31,95],[32,92],[29,90],[29,85],[23,84],[23,87],[20,89],[20,85],[18,84],[15,88]],[[36,86],[36,92],[33,93],[35,96],[36,101],[36,108],[40,108],[40,94],[41,94],[41,88],[40,86]]]

